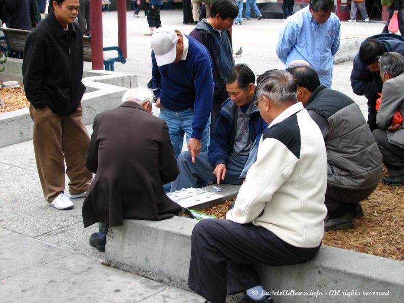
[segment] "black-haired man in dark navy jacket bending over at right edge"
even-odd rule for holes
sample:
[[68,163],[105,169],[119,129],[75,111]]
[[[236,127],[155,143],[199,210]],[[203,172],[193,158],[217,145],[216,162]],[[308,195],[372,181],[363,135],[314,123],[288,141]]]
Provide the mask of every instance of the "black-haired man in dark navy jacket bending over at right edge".
[[368,99],[368,124],[371,130],[379,128],[376,124],[376,100],[383,86],[377,59],[387,52],[404,55],[404,37],[396,34],[371,36],[362,42],[353,59],[352,90]]

